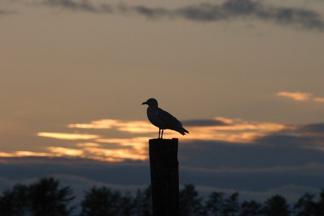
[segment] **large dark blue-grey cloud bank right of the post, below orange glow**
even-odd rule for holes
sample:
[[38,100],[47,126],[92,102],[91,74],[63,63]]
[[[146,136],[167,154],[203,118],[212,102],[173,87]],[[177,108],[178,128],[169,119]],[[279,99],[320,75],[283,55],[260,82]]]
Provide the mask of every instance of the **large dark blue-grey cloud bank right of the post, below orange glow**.
[[[269,133],[254,139],[251,143],[186,142],[179,145],[179,160],[182,162],[180,165],[188,169],[195,167],[196,171],[200,169],[200,171],[208,172],[210,170],[215,178],[225,173],[231,173],[233,176],[241,173],[243,178],[245,176],[243,173],[251,173],[254,177],[250,179],[251,176],[245,176],[244,179],[256,181],[264,176],[273,175],[278,181],[282,180],[280,183],[282,185],[285,184],[285,179],[290,179],[288,181],[291,184],[308,185],[307,181],[312,181],[311,179],[315,178],[314,175],[316,176],[317,171],[314,170],[324,169],[323,129],[324,124],[296,126],[290,130],[284,129]],[[241,178],[239,175],[236,177]],[[278,176],[281,177],[278,178]],[[298,176],[298,179],[293,180],[293,176]],[[324,180],[324,175],[317,177]],[[197,175],[196,178],[202,178],[202,176]],[[275,177],[272,180],[273,182],[270,183],[269,179],[269,186],[275,183]],[[224,182],[224,179],[219,179],[219,181]],[[262,181],[265,182],[265,180]],[[229,184],[231,182],[233,183],[233,181],[228,181]],[[320,181],[312,181],[311,186],[320,187]],[[246,185],[246,187],[249,186]],[[257,187],[261,187],[261,184]],[[242,187],[241,189],[248,188]],[[266,186],[263,189],[269,188]]]

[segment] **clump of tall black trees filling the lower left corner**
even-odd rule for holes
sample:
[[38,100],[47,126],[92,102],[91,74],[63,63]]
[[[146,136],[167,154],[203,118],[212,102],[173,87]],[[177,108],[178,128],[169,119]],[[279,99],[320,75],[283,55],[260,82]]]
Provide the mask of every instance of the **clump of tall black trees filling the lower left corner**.
[[42,178],[29,186],[17,184],[6,190],[0,197],[1,216],[68,216],[73,207],[68,207],[74,199],[72,189],[59,188],[54,178]]

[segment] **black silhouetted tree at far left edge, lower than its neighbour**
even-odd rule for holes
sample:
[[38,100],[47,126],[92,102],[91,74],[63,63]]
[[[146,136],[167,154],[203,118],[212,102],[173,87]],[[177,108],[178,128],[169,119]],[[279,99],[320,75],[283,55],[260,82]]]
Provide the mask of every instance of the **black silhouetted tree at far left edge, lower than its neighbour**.
[[12,190],[4,191],[0,197],[1,216],[24,216],[29,211],[28,187],[16,184]]

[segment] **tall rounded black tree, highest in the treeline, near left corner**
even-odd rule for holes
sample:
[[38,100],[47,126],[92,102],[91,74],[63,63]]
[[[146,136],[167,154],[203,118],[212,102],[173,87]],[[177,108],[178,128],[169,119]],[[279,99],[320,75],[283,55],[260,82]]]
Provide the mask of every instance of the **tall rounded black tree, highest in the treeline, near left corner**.
[[74,199],[70,186],[59,188],[59,180],[42,178],[29,186],[29,199],[33,216],[67,216],[74,207],[67,207]]

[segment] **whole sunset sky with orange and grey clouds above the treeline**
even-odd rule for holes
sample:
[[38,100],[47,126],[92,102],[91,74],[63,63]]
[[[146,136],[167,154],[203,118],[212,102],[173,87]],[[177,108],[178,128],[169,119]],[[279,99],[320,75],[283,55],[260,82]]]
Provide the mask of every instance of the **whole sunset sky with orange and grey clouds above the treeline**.
[[150,97],[180,184],[295,200],[324,187],[324,2],[3,0],[0,191],[150,184]]

